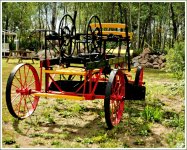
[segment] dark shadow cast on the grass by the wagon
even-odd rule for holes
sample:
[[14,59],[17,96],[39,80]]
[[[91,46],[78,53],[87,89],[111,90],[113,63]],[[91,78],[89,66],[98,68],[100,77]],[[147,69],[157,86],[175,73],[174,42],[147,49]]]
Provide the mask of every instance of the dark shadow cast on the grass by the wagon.
[[[88,108],[87,115],[79,112],[76,116],[67,118],[56,117],[54,123],[41,121],[41,117],[32,116],[26,121],[14,120],[13,128],[17,133],[32,138],[43,138],[46,134],[57,140],[77,142],[81,144],[98,144],[99,147],[162,147],[161,137],[151,132],[149,122],[139,121],[140,113],[144,104],[134,103],[127,105],[129,108],[124,114],[122,121],[112,130],[108,130],[104,121],[103,109]],[[89,119],[92,117],[92,119]],[[45,136],[44,136],[45,134]],[[89,139],[89,140],[88,140]],[[110,145],[108,143],[113,143]],[[71,147],[72,145],[69,145]],[[85,147],[87,147],[85,145]]]

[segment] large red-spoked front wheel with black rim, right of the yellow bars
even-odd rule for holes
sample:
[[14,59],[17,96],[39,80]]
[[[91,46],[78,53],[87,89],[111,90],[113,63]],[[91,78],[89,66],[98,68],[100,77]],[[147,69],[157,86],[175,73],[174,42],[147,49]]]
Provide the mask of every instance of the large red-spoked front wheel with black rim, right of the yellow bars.
[[104,110],[109,129],[116,126],[123,115],[125,96],[125,80],[121,70],[114,69],[106,86]]

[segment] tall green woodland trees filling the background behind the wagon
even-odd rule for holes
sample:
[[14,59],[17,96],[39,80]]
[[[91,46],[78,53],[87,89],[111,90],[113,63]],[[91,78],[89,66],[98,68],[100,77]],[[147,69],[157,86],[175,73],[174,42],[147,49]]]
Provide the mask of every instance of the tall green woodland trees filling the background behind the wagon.
[[65,13],[73,16],[75,10],[76,30],[81,33],[92,15],[98,15],[101,22],[113,23],[124,23],[127,15],[129,30],[134,33],[133,49],[143,49],[147,42],[154,49],[164,50],[177,40],[184,41],[185,5],[182,2],[3,2],[2,6],[2,27],[16,32],[20,42],[26,41],[30,29],[56,28],[57,31],[62,16]]

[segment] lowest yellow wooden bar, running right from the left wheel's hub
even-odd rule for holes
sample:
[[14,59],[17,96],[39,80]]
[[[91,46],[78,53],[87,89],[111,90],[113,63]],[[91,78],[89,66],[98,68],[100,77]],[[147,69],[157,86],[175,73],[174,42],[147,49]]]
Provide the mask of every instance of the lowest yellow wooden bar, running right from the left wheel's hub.
[[40,96],[40,97],[49,97],[49,98],[64,98],[64,99],[70,99],[70,100],[85,100],[85,98],[81,96],[62,95],[62,94],[34,93],[32,95]]

